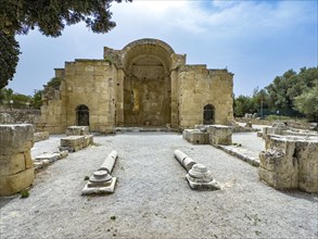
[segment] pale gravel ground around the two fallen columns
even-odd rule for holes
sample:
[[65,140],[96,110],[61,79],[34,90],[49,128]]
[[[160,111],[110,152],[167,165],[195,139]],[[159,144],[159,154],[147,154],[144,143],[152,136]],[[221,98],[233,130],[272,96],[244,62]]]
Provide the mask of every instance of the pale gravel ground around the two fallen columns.
[[[318,238],[318,194],[282,192],[258,180],[257,168],[178,134],[94,137],[98,143],[36,175],[26,199],[0,198],[4,238]],[[33,154],[56,148],[37,142]],[[118,181],[107,196],[82,197],[84,177],[111,150]],[[224,189],[193,191],[174,159],[180,149],[205,164]]]

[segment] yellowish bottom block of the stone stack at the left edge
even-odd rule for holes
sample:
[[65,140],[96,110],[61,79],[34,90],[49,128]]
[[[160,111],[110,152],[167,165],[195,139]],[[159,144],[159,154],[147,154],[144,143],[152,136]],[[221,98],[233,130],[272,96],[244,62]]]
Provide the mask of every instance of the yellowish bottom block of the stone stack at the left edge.
[[29,168],[17,174],[0,176],[0,196],[11,196],[34,183],[35,172]]

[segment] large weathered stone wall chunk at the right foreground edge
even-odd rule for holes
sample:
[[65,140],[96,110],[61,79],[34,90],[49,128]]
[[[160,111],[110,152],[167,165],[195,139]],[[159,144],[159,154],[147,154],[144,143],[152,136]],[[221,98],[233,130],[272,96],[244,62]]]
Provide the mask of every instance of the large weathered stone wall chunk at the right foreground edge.
[[318,192],[318,138],[269,136],[259,153],[259,178],[277,189]]

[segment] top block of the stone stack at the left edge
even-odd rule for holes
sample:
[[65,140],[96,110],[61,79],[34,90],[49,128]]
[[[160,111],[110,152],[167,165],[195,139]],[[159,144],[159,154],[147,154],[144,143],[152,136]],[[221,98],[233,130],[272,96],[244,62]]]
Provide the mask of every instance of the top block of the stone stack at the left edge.
[[0,125],[0,154],[28,151],[34,146],[34,126],[30,124]]

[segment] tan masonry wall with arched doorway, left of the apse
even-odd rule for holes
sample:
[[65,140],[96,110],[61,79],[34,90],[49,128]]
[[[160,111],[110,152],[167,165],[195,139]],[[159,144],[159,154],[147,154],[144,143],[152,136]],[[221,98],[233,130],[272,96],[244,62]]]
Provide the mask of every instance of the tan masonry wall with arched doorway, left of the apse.
[[89,109],[92,131],[105,131],[114,126],[115,115],[115,67],[103,60],[76,60],[65,66],[65,97],[67,99],[67,126],[77,125],[76,108],[85,104]]

